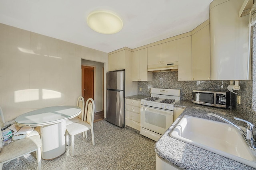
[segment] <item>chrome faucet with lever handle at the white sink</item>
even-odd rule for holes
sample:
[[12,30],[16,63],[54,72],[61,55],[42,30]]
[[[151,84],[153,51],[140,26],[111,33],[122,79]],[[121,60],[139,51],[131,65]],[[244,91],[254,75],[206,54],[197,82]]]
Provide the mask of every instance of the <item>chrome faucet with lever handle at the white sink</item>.
[[226,123],[234,126],[236,129],[238,129],[242,134],[244,139],[246,140],[247,144],[249,145],[250,149],[252,150],[256,150],[256,140],[254,139],[254,137],[256,136],[255,134],[255,127],[252,123],[244,120],[244,119],[240,119],[237,117],[234,117],[234,119],[239,120],[239,121],[243,121],[245,122],[247,125],[245,127],[246,131],[243,131],[240,127],[238,127],[237,125],[235,125],[234,123],[228,121],[227,119],[224,119],[223,117],[220,117],[219,115],[216,115],[214,113],[208,113],[208,116],[214,116],[214,117],[218,117],[219,119],[225,121]]

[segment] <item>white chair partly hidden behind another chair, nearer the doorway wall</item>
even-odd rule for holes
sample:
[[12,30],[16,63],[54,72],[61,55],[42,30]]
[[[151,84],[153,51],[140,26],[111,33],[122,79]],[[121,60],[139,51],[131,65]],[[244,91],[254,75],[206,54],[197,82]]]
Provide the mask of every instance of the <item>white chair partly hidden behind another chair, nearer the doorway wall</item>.
[[[66,120],[66,126],[70,125],[72,123],[76,123],[76,122],[84,120],[84,98],[82,96],[78,97],[77,102],[76,102],[76,106],[80,107],[82,109],[82,112],[77,117]],[[83,133],[83,135],[84,135],[84,133]],[[66,145],[68,145],[68,143],[69,143],[69,141],[68,141],[68,132],[66,132]]]

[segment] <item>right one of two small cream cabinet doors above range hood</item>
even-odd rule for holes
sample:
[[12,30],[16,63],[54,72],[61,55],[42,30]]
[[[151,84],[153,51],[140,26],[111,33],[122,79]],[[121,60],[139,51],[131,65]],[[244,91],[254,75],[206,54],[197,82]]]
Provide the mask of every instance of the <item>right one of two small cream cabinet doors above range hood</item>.
[[178,40],[161,44],[161,63],[178,61]]

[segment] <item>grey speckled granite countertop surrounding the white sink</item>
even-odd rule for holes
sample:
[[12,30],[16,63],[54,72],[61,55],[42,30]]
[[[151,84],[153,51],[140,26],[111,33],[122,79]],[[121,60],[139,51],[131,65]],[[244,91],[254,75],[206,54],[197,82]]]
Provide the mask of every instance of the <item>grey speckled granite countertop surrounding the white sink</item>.
[[208,150],[195,147],[170,137],[170,133],[184,115],[222,121],[217,117],[207,116],[207,113],[215,113],[236,125],[246,126],[243,122],[234,119],[234,117],[244,119],[241,114],[238,114],[231,109],[202,106],[193,104],[190,101],[182,100],[174,104],[174,107],[182,107],[185,108],[185,110],[156,142],[155,151],[160,158],[184,170],[254,169],[250,166],[246,166],[229,158],[225,158]]

